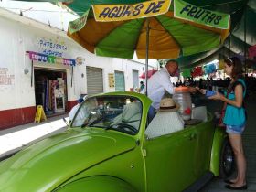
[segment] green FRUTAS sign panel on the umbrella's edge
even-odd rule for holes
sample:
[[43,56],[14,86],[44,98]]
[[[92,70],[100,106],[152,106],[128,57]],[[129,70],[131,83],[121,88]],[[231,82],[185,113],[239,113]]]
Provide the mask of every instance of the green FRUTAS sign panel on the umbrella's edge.
[[174,16],[209,27],[229,28],[229,15],[210,11],[182,0],[174,0]]

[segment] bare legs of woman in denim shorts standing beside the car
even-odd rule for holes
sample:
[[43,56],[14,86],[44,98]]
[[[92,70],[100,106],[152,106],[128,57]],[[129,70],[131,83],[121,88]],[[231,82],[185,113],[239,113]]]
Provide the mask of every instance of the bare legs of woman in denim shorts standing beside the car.
[[231,187],[244,186],[246,184],[246,159],[243,152],[241,134],[229,133],[229,141],[232,146],[238,168],[238,176],[236,179],[231,180],[234,182]]

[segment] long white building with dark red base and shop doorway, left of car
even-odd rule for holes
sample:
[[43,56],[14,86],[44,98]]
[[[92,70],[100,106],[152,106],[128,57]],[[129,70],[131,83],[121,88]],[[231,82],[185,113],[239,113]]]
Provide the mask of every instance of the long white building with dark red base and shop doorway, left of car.
[[37,105],[52,116],[69,112],[81,95],[129,91],[133,70],[144,72],[142,62],[97,57],[65,31],[27,17],[0,9],[0,23],[0,130],[34,122]]

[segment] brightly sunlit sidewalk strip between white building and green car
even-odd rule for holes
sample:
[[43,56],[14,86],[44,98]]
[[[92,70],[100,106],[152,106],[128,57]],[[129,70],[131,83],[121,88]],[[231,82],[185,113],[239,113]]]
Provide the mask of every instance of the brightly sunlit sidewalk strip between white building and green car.
[[66,130],[62,118],[68,114],[48,118],[42,123],[28,123],[0,131],[0,161],[15,154],[28,144],[34,144],[56,133]]

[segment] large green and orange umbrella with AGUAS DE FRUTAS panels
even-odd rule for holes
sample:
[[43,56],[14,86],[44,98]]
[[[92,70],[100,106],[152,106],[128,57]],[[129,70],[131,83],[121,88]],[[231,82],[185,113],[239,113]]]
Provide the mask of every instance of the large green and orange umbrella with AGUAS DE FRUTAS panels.
[[182,0],[92,5],[69,23],[68,31],[98,56],[131,59],[136,52],[138,59],[146,59],[146,71],[147,59],[173,59],[217,48],[228,35],[229,15]]

